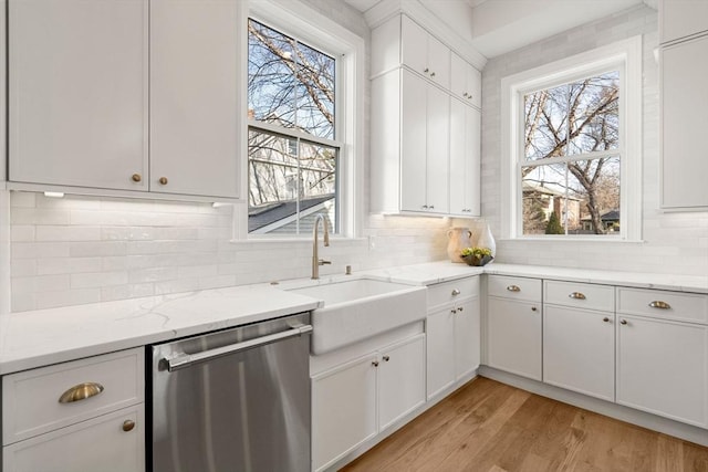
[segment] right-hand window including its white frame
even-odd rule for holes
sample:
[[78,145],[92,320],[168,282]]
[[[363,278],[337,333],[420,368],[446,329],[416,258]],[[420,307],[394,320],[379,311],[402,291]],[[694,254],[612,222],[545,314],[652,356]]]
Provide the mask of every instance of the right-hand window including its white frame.
[[506,234],[638,239],[641,45],[635,38],[502,80]]

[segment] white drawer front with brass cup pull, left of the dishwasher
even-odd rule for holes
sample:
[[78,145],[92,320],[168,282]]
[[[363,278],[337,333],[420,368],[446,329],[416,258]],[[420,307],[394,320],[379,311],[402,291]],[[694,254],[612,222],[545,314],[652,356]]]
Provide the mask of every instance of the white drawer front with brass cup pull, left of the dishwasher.
[[[144,366],[140,347],[4,376],[2,443],[142,402]],[[103,391],[77,401],[59,401],[65,391],[84,382],[100,384]]]

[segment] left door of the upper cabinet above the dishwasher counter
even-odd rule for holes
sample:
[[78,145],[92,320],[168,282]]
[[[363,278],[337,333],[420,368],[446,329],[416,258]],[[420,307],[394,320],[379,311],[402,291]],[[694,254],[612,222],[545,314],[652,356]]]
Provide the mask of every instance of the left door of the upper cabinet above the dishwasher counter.
[[9,2],[10,180],[147,189],[147,6]]

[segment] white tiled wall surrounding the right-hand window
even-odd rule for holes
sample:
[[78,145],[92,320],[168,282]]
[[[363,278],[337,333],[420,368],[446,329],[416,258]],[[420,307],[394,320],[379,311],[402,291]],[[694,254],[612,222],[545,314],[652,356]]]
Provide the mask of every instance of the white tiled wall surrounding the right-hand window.
[[658,210],[657,12],[636,7],[494,57],[482,71],[482,214],[500,229],[500,81],[528,69],[636,34],[644,50],[644,243],[497,241],[500,262],[708,275],[708,213]]

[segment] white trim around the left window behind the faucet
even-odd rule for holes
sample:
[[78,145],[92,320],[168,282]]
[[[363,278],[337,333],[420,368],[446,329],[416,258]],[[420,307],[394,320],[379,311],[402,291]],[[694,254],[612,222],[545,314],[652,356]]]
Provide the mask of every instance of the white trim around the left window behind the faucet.
[[[364,91],[365,76],[365,41],[346,30],[333,20],[312,10],[299,0],[251,0],[248,18],[262,21],[284,34],[292,34],[300,41],[311,43],[320,51],[331,54],[337,61],[337,104],[335,107],[336,141],[341,144],[339,167],[342,170],[340,179],[339,202],[340,238],[355,238],[361,232],[363,208],[363,158],[364,158]],[[248,18],[246,21],[248,21]],[[243,31],[247,31],[246,23]],[[247,43],[247,41],[244,41]],[[243,51],[243,63],[248,62],[248,44]],[[240,94],[243,104],[248,103],[248,84],[246,82],[246,65],[243,65],[243,83]],[[244,114],[244,113],[243,113]],[[233,241],[247,241],[248,234],[248,120],[243,119],[242,133],[242,169],[243,204],[233,211]],[[262,127],[262,124],[258,124]],[[312,140],[312,137],[308,139]],[[252,240],[269,241],[264,234],[251,235]],[[285,238],[279,234],[273,241],[282,242],[310,240],[306,234]]]

